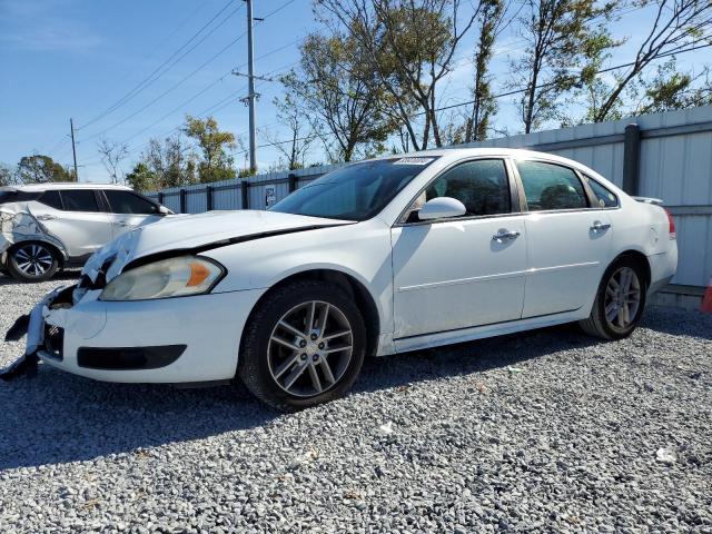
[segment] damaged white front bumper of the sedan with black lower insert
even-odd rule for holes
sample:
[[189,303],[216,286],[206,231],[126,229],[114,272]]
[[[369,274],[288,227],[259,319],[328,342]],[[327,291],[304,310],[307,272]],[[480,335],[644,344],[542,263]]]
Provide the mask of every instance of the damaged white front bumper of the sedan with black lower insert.
[[33,308],[26,354],[76,375],[123,383],[233,378],[243,327],[264,293],[109,303],[93,290],[76,305],[58,306],[62,290]]

